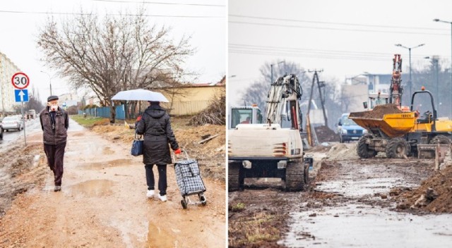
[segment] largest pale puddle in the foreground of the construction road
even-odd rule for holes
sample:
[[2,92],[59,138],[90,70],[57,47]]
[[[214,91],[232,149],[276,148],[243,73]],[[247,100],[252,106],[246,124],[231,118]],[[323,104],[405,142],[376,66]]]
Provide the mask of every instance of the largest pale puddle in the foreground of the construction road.
[[[313,216],[316,214],[316,216]],[[452,215],[415,216],[352,204],[290,214],[286,247],[450,247]]]

